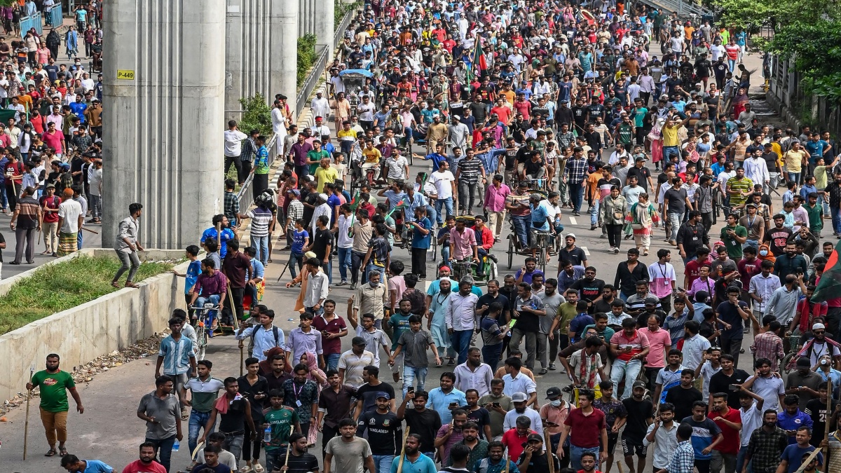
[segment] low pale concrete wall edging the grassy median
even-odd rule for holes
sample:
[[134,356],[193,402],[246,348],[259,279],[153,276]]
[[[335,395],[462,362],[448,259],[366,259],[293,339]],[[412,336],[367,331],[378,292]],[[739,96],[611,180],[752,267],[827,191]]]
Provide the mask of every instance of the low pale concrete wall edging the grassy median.
[[[103,249],[85,249],[81,253],[114,254]],[[156,254],[167,258],[183,255],[180,251]],[[66,258],[76,257],[71,255],[56,262]],[[184,272],[188,264],[176,268]],[[26,277],[33,271],[20,276]],[[0,288],[13,283],[12,279],[4,280]],[[0,291],[5,294],[8,289]],[[171,273],[159,274],[140,282],[140,289],[122,289],[103,295],[0,336],[0,359],[6,365],[6,369],[0,370],[0,399],[11,399],[25,391],[29,366],[34,364],[36,370],[43,369],[48,353],[59,353],[61,365],[69,370],[163,331],[172,311],[185,308],[183,291],[184,279]]]

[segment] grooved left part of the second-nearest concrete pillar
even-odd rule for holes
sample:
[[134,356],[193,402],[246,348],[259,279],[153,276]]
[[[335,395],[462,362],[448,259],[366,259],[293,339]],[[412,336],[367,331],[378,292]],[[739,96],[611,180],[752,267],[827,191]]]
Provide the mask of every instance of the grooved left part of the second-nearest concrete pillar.
[[[272,0],[226,0],[225,14],[225,120],[241,120],[240,98],[261,93],[269,103],[272,29],[268,11]],[[246,130],[247,133],[247,130]]]

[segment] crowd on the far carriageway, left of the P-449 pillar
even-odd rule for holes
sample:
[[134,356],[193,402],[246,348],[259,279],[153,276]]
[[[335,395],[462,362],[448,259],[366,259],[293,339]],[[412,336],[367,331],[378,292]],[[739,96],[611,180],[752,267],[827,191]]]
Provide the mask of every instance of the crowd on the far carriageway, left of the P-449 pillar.
[[[71,254],[82,248],[84,226],[102,223],[103,76],[93,75],[102,71],[102,4],[77,3],[76,26],[63,37],[61,24],[43,36],[19,30],[21,17],[48,18],[55,5],[27,0],[0,7],[5,35],[23,38],[0,37],[0,211],[11,217],[15,236],[7,264],[33,264],[36,252]],[[0,249],[6,244],[0,234]]]

